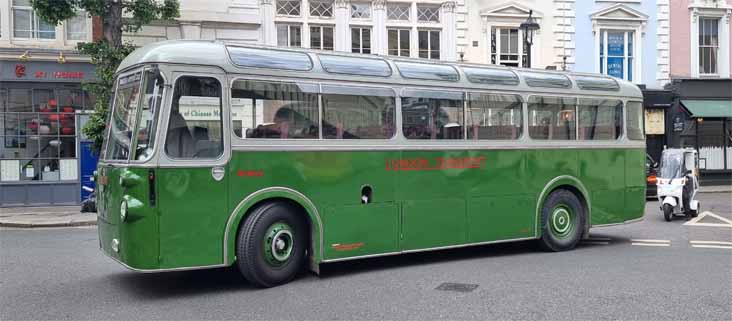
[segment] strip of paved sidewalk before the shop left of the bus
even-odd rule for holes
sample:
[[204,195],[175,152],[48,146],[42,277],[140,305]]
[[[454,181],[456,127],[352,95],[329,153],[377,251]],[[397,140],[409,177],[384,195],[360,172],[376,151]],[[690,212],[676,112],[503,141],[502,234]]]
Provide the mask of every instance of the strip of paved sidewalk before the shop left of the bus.
[[0,207],[0,227],[65,227],[97,224],[97,213],[81,206]]

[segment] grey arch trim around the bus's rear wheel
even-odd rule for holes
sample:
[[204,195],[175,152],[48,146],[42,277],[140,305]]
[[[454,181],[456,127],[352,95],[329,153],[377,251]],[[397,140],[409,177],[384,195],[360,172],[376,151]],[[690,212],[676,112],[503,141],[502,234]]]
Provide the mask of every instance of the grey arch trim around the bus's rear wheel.
[[584,184],[577,179],[574,176],[569,175],[563,175],[558,176],[549,181],[542,192],[539,194],[539,197],[536,202],[536,213],[535,213],[535,224],[536,224],[536,238],[541,238],[542,235],[542,207],[544,206],[544,202],[546,202],[547,198],[556,191],[566,190],[571,192],[580,202],[582,206],[581,215],[583,216],[583,225],[582,225],[582,238],[585,238],[589,236],[589,230],[591,226],[591,218],[592,218],[592,211],[591,211],[591,204],[590,204],[590,194],[588,190],[585,188]]

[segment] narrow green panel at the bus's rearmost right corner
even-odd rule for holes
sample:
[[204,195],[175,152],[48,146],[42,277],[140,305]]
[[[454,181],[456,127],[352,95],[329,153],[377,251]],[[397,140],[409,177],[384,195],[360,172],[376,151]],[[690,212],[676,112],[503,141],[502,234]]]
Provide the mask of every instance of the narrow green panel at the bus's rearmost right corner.
[[646,151],[625,151],[625,220],[643,217],[646,208]]

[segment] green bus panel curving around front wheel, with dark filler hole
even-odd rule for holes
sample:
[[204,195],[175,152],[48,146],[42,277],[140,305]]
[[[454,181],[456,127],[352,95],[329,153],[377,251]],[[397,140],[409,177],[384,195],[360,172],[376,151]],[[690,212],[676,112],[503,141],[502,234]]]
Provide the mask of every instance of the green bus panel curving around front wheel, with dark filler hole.
[[[387,171],[385,163],[398,155],[386,151],[234,151],[229,208],[233,210],[248,195],[267,187],[290,188],[310,199],[320,213],[323,259],[393,252],[399,235],[396,173]],[[362,190],[367,186],[371,198],[362,204]]]

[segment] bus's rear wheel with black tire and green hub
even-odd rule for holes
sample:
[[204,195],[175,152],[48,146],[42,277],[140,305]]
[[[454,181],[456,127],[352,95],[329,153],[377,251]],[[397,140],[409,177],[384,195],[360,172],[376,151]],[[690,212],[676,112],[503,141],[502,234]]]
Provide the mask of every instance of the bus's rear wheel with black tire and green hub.
[[[544,250],[552,252],[573,249],[582,238],[586,212],[579,198],[568,190],[559,189],[549,194],[541,208],[539,245]],[[566,224],[560,225],[559,222]]]

